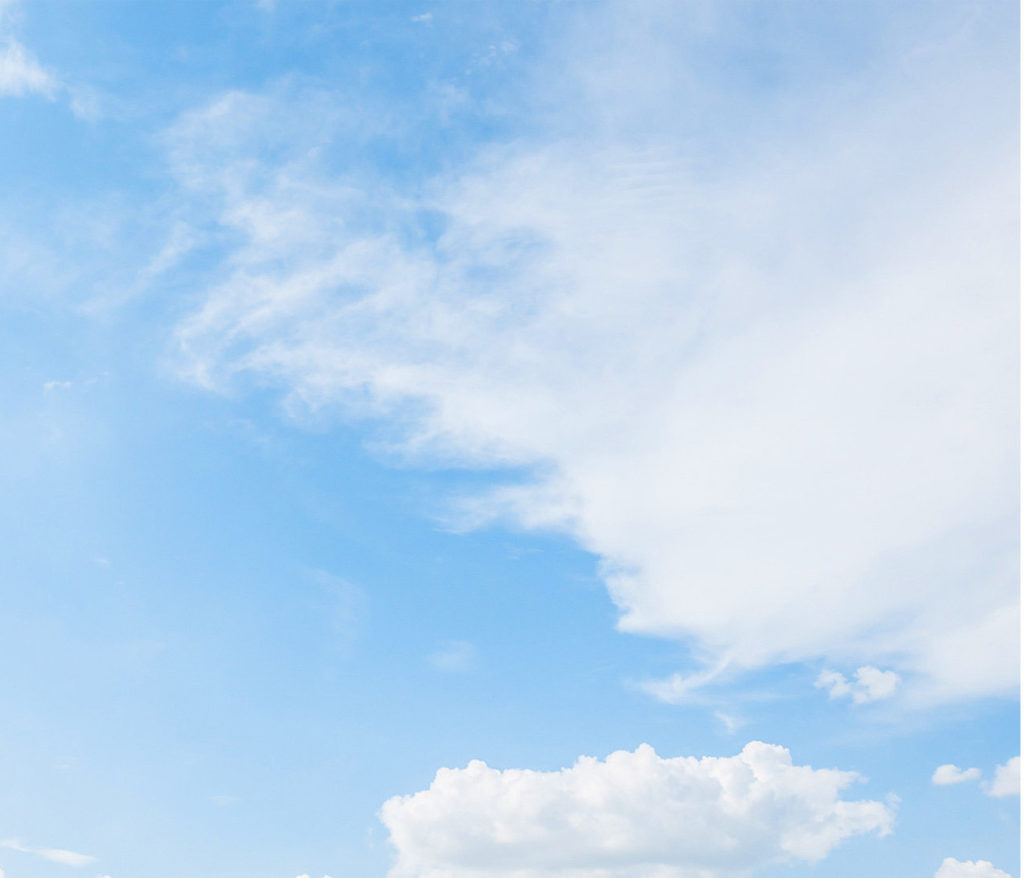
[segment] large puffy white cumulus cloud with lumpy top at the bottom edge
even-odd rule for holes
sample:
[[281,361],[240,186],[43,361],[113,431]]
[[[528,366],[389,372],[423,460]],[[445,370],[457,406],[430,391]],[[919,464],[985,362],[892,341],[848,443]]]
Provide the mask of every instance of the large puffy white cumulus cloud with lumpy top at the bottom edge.
[[885,835],[889,806],[840,798],[856,780],[758,742],[701,759],[642,745],[560,771],[441,768],[380,817],[397,850],[391,878],[706,878]]

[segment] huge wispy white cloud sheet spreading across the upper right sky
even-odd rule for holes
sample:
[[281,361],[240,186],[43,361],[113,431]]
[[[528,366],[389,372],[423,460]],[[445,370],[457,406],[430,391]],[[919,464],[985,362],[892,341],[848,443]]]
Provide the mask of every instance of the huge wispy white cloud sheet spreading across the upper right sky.
[[688,62],[682,7],[641,8],[555,41],[543,133],[415,189],[318,163],[325,126],[366,127],[327,93],[183,117],[176,172],[243,241],[183,370],[531,472],[460,522],[597,555],[623,630],[694,646],[668,700],[821,658],[919,701],[1014,692],[1014,65],[929,13],[859,78],[753,101]]

